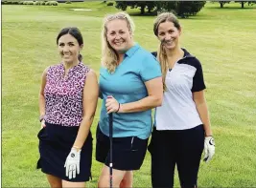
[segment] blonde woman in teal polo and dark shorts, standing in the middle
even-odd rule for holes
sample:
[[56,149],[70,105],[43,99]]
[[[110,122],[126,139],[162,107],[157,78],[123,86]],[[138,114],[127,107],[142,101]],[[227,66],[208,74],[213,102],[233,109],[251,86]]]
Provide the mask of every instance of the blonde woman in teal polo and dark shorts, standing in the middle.
[[100,90],[103,98],[97,129],[96,159],[105,163],[98,187],[109,186],[109,125],[113,113],[113,187],[132,187],[151,135],[151,109],[162,103],[159,63],[133,42],[128,14],[107,15],[103,29]]

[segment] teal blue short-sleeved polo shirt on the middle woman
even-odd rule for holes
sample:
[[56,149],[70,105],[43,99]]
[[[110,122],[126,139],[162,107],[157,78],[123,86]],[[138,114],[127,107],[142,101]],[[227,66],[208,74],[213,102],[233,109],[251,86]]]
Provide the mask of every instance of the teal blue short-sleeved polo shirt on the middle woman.
[[[109,136],[108,115],[105,99],[113,95],[121,104],[138,101],[148,96],[145,82],[162,76],[158,61],[138,44],[125,53],[124,60],[114,73],[100,70],[100,91],[103,104],[99,126]],[[151,135],[151,110],[138,113],[114,113],[113,137],[138,136],[146,139]]]

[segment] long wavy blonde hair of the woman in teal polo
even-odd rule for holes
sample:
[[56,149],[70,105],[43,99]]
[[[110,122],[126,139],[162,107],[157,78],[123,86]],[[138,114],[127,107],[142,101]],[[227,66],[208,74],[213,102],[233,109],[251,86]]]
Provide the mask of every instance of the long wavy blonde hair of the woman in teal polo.
[[125,20],[127,22],[128,31],[131,35],[133,35],[133,32],[135,31],[135,25],[128,13],[121,11],[115,14],[108,14],[105,16],[102,31],[102,64],[103,66],[105,66],[109,73],[115,72],[119,61],[119,56],[117,52],[110,46],[106,37],[108,22],[116,19]]

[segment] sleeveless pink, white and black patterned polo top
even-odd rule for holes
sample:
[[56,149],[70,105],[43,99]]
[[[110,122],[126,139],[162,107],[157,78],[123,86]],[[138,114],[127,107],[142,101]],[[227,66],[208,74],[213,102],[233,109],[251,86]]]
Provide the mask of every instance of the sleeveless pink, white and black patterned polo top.
[[80,126],[82,92],[90,69],[81,62],[64,77],[64,66],[51,66],[46,75],[45,121],[61,126]]

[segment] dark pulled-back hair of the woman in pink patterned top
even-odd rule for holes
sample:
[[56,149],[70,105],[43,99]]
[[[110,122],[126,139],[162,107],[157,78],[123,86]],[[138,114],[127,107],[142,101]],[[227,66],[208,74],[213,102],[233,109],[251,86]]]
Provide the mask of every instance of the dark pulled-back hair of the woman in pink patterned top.
[[[65,34],[70,34],[74,38],[76,38],[80,46],[83,44],[83,39],[82,39],[82,36],[81,36],[81,31],[78,28],[76,28],[76,27],[63,28],[61,31],[59,31],[58,36],[57,36],[57,40],[56,40],[57,44],[58,44],[58,39],[61,36],[65,35]],[[79,58],[79,61],[81,61],[81,59],[82,59],[81,54],[79,54],[78,58]]]

